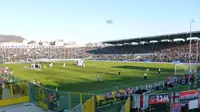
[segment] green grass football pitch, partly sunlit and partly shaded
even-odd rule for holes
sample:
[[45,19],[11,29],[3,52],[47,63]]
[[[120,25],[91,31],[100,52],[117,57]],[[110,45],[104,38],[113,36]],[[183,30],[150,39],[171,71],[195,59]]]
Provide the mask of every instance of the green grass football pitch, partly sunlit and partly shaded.
[[[174,64],[161,63],[139,63],[139,62],[109,62],[109,61],[84,61],[85,68],[76,66],[75,61],[54,63],[40,63],[47,68],[41,70],[28,69],[25,66],[30,64],[7,64],[13,69],[13,74],[25,80],[42,81],[46,87],[70,91],[103,94],[105,91],[126,89],[155,81],[165,80],[166,77],[174,75]],[[148,79],[143,79],[146,69],[149,69]],[[158,75],[158,68],[161,68],[161,75]],[[108,74],[106,74],[106,70]],[[118,71],[121,75],[118,76]],[[97,74],[100,75],[100,82],[96,81]]]

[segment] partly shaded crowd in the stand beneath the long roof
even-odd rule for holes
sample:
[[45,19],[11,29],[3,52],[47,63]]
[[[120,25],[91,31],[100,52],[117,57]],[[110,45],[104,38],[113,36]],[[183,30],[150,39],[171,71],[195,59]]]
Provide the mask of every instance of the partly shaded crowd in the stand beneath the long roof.
[[[196,59],[196,43],[192,43],[191,58]],[[200,45],[198,46],[200,48]],[[115,60],[134,60],[144,61],[151,60],[156,62],[171,62],[180,60],[187,62],[189,57],[188,42],[162,42],[144,45],[123,45],[108,46],[91,51],[98,54],[97,59],[115,59]]]

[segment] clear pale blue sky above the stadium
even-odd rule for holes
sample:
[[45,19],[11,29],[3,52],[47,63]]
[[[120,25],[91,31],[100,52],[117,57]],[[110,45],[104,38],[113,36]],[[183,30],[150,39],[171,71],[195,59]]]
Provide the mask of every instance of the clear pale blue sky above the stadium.
[[[0,0],[0,34],[78,43],[200,30],[200,0]],[[106,20],[113,20],[107,25]]]

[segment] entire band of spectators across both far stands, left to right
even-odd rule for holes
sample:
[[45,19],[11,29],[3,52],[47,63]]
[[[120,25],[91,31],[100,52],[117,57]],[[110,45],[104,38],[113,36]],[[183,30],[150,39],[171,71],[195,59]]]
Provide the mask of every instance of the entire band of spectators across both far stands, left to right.
[[[198,46],[200,47],[200,45]],[[192,59],[196,58],[196,43],[192,43]],[[162,42],[143,45],[2,48],[0,60],[14,62],[27,59],[87,58],[96,60],[151,60],[156,62],[188,61],[188,42]]]

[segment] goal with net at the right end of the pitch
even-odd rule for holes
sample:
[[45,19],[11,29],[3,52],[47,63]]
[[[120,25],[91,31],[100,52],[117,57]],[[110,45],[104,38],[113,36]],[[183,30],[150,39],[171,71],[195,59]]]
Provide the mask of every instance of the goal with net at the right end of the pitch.
[[[174,65],[174,75],[185,75],[185,74],[199,74],[200,64],[191,63],[180,63]],[[191,68],[191,69],[189,69]]]

